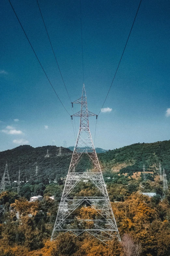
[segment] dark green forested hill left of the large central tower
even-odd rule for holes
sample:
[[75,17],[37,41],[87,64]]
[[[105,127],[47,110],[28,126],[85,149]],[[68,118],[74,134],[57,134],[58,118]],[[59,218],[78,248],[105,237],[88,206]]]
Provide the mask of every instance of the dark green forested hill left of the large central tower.
[[[50,157],[45,157],[49,150]],[[28,180],[34,177],[36,166],[39,175],[43,175],[50,180],[56,176],[64,177],[68,172],[68,167],[72,157],[72,151],[68,148],[61,148],[62,156],[58,157],[59,147],[43,146],[32,147],[23,145],[11,150],[0,152],[0,178],[3,175],[6,161],[10,179],[18,179],[18,170],[21,170],[21,180]]]

